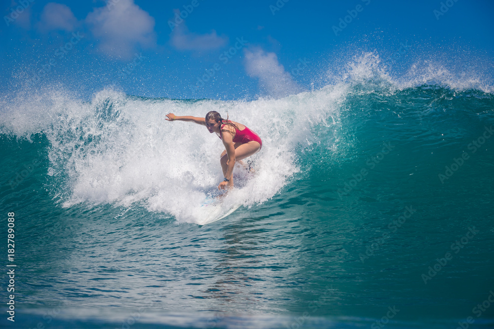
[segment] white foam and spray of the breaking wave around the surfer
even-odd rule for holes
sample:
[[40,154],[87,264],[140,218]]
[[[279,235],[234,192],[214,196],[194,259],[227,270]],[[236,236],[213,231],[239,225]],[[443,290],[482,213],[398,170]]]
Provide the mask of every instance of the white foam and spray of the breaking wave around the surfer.
[[[165,114],[204,117],[216,110],[241,122],[262,139],[255,176],[231,195],[232,202],[252,207],[273,197],[294,173],[297,150],[317,143],[315,127],[330,127],[337,147],[339,113],[352,86],[375,91],[403,89],[428,81],[453,88],[492,90],[472,77],[457,77],[438,65],[415,66],[408,76],[392,77],[375,54],[349,61],[328,78],[330,84],[281,99],[197,102],[144,99],[104,89],[83,102],[61,88],[19,92],[1,100],[0,132],[29,138],[41,132],[49,140],[47,174],[60,178],[63,205],[144,205],[178,221],[196,222],[206,195],[223,179],[215,134],[190,122],[169,122]],[[328,71],[329,72],[329,71]],[[242,177],[243,169],[234,171]],[[238,182],[240,183],[240,182]]]

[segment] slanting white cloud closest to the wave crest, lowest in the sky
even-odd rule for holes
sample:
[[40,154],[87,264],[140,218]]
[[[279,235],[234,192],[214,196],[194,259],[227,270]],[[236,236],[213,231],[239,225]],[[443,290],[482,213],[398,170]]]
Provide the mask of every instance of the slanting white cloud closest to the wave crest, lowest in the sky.
[[275,53],[266,53],[260,48],[244,50],[245,67],[248,75],[259,79],[259,87],[269,96],[284,97],[300,92],[300,87],[278,62]]

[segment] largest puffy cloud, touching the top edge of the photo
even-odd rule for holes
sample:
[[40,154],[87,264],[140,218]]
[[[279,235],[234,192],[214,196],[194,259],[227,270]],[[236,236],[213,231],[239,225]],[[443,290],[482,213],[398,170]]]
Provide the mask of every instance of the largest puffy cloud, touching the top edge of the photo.
[[[128,59],[134,51],[156,45],[155,20],[133,0],[108,2],[86,17],[99,49],[108,55]],[[139,49],[140,48],[140,49]]]

